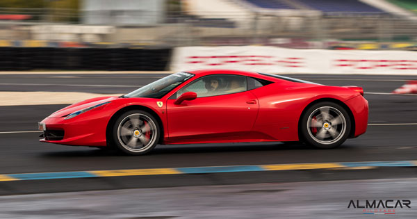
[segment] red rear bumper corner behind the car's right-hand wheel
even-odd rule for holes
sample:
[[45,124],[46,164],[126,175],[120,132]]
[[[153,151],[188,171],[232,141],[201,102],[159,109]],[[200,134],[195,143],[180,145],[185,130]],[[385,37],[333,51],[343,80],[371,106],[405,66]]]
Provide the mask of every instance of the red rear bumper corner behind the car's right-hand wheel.
[[354,135],[351,137],[360,136],[366,132],[366,128],[368,127],[368,101],[361,95],[358,95],[345,102],[345,104],[349,106],[354,116]]

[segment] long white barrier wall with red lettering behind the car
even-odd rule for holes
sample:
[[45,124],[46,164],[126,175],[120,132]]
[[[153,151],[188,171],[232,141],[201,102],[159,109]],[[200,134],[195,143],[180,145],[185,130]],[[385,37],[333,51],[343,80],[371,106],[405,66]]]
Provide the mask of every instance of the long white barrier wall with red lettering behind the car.
[[177,47],[170,68],[175,72],[218,68],[279,74],[417,74],[417,51]]

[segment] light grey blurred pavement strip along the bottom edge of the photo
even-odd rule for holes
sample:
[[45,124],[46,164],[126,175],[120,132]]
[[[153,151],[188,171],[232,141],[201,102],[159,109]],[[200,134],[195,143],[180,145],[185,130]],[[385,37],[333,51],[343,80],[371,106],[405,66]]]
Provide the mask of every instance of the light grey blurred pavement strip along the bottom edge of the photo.
[[[377,209],[382,218],[416,218],[417,179],[374,179],[136,188],[0,197],[0,218],[374,218],[350,200],[410,200]],[[391,201],[394,203],[394,201]]]

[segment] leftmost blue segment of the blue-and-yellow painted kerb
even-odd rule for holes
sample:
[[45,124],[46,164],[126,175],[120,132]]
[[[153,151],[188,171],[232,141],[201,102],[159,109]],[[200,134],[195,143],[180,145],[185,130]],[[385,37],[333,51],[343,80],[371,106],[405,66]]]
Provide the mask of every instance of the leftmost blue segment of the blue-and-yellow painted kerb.
[[31,179],[65,179],[65,178],[84,178],[84,177],[98,177],[90,172],[39,172],[39,173],[19,173],[9,174],[9,177],[13,177],[20,180]]

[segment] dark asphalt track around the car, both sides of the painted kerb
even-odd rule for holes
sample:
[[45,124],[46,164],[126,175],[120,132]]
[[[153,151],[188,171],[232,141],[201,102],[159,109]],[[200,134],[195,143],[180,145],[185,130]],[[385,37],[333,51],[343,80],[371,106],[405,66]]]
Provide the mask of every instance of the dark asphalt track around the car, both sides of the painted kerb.
[[[127,93],[166,74],[1,74],[1,91]],[[417,95],[389,95],[416,76],[288,75],[334,86],[362,86],[370,103],[367,133],[347,140],[338,149],[312,149],[306,145],[240,143],[208,145],[158,145],[147,156],[123,156],[88,147],[68,147],[38,142],[36,122],[65,105],[0,106],[0,174],[183,168],[218,165],[263,165],[352,161],[417,160]],[[53,93],[51,93],[53,95]],[[45,97],[48,98],[48,97]],[[14,133],[10,133],[14,132]],[[240,184],[270,181],[318,181],[416,177],[415,168],[384,168],[326,172],[284,171],[268,173],[218,173],[181,177],[122,177],[113,179],[54,179],[2,182],[1,194],[60,192],[196,184]],[[138,182],[140,179],[140,183]],[[70,188],[67,184],[71,182]],[[20,185],[20,186],[19,186]],[[75,186],[74,186],[75,185]]]

